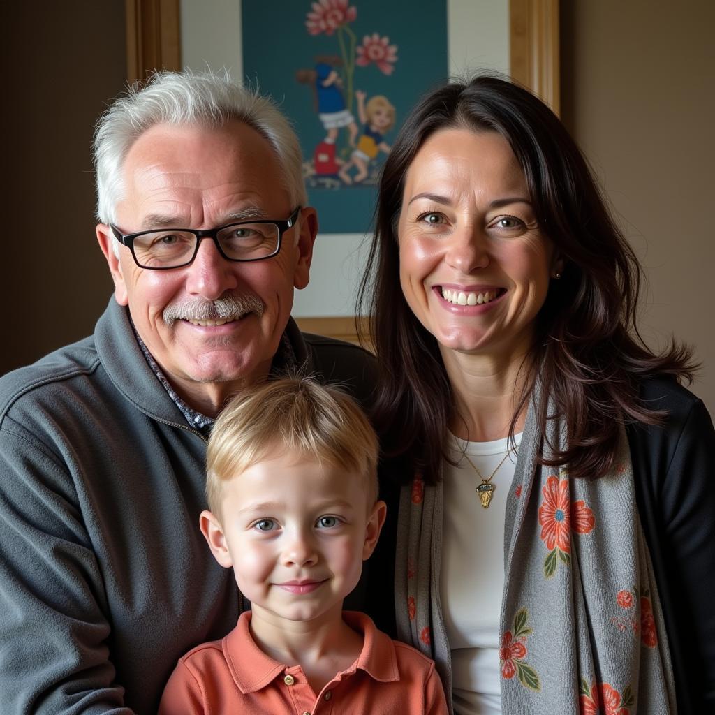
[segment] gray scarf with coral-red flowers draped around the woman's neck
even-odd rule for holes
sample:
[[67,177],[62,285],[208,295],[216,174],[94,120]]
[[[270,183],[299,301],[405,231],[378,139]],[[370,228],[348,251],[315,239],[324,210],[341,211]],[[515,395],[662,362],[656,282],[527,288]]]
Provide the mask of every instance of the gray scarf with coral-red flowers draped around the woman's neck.
[[[564,425],[551,420],[548,441],[563,444],[564,435]],[[503,714],[675,713],[625,430],[618,466],[596,480],[571,480],[566,468],[539,465],[541,450],[548,453],[532,406],[506,507]],[[415,478],[400,496],[398,637],[435,660],[451,707],[450,649],[439,601],[442,526],[442,483]],[[475,568],[479,548],[475,543]]]

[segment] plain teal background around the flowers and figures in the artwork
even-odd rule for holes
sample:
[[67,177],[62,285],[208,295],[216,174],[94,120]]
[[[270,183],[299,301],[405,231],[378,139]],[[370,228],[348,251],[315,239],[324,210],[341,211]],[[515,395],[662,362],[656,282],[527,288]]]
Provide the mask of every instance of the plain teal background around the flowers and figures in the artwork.
[[[305,21],[312,3],[303,0],[244,0],[242,3],[243,71],[247,82],[257,83],[263,94],[290,117],[303,151],[304,161],[325,137],[314,106],[310,84],[295,78],[299,69],[313,69],[315,56],[341,56],[337,32],[308,34]],[[360,46],[365,35],[388,36],[398,46],[393,74],[385,75],[375,64],[355,65],[353,90],[367,92],[368,99],[384,94],[395,105],[395,127],[385,134],[390,146],[400,123],[418,99],[448,77],[446,0],[353,0],[358,15],[349,24]],[[340,68],[337,68],[340,69]],[[343,90],[346,86],[343,85]],[[344,92],[345,94],[345,92]],[[347,99],[347,97],[346,97]],[[362,124],[353,98],[352,114]],[[341,129],[337,147],[347,144]],[[343,149],[347,157],[347,149]],[[380,152],[377,162],[385,154]],[[336,182],[337,183],[337,182]],[[310,204],[317,209],[322,233],[365,233],[375,210],[374,186],[352,184],[337,189],[308,187]]]

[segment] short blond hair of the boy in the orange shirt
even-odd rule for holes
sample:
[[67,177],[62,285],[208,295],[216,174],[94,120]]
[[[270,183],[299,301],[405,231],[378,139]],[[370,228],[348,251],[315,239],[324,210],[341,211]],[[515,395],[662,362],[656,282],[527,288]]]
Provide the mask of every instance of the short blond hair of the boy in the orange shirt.
[[220,513],[223,483],[278,448],[358,473],[368,506],[378,497],[378,438],[368,418],[335,385],[284,378],[243,391],[222,410],[206,453],[206,498]]

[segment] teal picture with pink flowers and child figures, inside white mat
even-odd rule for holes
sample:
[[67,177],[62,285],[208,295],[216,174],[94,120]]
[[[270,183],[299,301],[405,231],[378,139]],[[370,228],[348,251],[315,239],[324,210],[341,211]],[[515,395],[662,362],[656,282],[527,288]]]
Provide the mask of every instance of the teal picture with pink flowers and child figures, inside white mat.
[[266,4],[242,3],[243,76],[292,121],[320,230],[365,235],[400,118],[448,78],[446,0],[271,6],[267,31]]

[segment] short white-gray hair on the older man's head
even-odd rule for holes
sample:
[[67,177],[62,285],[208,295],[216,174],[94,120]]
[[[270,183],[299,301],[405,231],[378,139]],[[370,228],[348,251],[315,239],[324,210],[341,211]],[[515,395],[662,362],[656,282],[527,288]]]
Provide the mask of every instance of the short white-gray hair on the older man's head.
[[222,127],[231,119],[245,122],[267,139],[282,166],[292,206],[305,206],[300,144],[276,105],[257,90],[232,82],[227,71],[184,69],[157,72],[142,88],[134,84],[99,118],[94,133],[99,220],[117,222],[117,204],[125,190],[124,159],[147,129],[155,124]]

